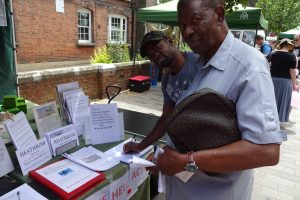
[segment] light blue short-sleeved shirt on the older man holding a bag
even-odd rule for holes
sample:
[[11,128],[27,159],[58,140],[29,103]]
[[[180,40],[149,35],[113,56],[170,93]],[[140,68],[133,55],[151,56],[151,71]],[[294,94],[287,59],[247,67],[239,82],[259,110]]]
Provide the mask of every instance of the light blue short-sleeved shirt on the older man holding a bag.
[[[229,32],[208,63],[199,58],[198,66],[193,83],[177,103],[202,88],[214,89],[235,102],[242,139],[255,144],[286,140],[279,128],[274,86],[263,54]],[[187,183],[168,176],[166,197],[168,200],[250,200],[252,185],[253,170],[215,176],[197,171]]]

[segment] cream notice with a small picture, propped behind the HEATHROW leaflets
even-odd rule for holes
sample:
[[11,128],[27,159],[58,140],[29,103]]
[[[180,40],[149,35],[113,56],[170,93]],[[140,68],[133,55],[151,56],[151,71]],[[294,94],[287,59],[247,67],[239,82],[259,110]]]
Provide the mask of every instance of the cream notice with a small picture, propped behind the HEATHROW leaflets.
[[34,107],[32,112],[40,138],[44,137],[46,132],[62,127],[55,101]]

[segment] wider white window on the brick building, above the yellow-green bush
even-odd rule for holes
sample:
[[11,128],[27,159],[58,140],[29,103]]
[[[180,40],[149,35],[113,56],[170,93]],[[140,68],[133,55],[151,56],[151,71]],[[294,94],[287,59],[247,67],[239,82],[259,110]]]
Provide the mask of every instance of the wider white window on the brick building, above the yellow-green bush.
[[121,15],[109,15],[108,41],[111,43],[127,42],[127,19]]

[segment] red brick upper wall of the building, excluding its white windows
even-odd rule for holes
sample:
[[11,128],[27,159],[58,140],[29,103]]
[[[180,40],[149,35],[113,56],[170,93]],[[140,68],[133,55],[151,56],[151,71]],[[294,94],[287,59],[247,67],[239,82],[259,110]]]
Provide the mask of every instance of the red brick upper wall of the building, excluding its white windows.
[[[127,17],[131,43],[130,2],[124,0],[65,0],[64,13],[56,12],[54,0],[14,0],[14,18],[19,64],[86,60],[107,42],[108,14]],[[92,12],[94,46],[77,45],[77,10]]]

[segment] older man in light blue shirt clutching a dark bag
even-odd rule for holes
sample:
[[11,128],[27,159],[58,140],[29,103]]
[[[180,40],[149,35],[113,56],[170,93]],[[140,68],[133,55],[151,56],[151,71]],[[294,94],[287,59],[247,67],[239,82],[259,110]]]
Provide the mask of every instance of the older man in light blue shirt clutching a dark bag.
[[[177,10],[183,39],[199,54],[194,81],[177,104],[203,88],[216,90],[235,103],[242,139],[188,153],[171,143],[152,172],[167,175],[167,200],[250,200],[252,169],[276,165],[280,144],[286,140],[269,64],[263,54],[230,33],[223,0],[179,0]],[[192,175],[187,182],[174,176],[182,171]]]

